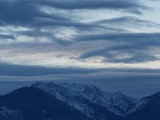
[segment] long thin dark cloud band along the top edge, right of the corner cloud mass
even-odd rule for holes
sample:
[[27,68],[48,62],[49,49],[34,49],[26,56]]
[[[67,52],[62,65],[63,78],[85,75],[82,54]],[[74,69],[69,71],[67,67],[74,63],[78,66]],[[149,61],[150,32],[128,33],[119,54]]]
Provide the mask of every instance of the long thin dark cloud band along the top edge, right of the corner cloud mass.
[[[65,1],[41,1],[46,5],[53,6],[59,9],[127,9],[127,8],[143,8],[137,1],[127,0],[65,0]],[[62,4],[63,2],[63,4]]]

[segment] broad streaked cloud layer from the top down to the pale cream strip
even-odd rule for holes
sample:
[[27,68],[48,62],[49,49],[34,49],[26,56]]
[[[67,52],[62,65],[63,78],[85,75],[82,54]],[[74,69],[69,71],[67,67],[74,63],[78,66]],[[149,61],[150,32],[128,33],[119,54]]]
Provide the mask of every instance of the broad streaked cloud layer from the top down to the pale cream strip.
[[159,61],[160,23],[143,18],[146,11],[154,12],[146,3],[0,1],[0,50],[5,53],[0,62],[105,68]]

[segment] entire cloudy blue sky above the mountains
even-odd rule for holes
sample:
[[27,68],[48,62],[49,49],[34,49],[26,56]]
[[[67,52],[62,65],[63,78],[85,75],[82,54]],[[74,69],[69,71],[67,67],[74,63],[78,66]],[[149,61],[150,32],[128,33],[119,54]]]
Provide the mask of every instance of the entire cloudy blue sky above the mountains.
[[159,5],[0,0],[0,81],[6,91],[15,86],[8,81],[35,78],[89,82],[138,97],[160,91]]

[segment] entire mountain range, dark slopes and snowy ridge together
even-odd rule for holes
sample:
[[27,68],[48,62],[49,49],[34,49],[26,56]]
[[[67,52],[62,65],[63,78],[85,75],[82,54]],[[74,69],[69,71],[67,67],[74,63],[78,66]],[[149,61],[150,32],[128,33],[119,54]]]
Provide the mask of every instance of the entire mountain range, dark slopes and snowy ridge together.
[[0,96],[0,120],[159,120],[160,93],[136,99],[92,85],[37,82]]

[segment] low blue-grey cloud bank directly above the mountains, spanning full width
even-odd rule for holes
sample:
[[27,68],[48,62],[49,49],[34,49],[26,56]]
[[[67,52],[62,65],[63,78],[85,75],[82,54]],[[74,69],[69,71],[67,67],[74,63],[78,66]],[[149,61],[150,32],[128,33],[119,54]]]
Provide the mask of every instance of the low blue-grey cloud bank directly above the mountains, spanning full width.
[[[2,64],[0,65],[0,67]],[[24,67],[24,66],[23,66]],[[20,68],[23,68],[22,66]],[[4,68],[2,66],[2,68]],[[97,69],[97,70],[79,70],[69,68],[55,69],[52,75],[42,74],[44,76],[32,76],[32,69],[25,71],[25,74],[19,76],[20,69],[16,66],[8,65],[8,74],[0,75],[0,94],[5,94],[16,88],[31,85],[37,81],[53,81],[55,83],[82,83],[99,87],[107,92],[122,92],[124,94],[143,97],[160,91],[159,69]],[[38,70],[38,67],[34,70]],[[14,76],[10,75],[10,69],[14,69]],[[39,68],[40,69],[45,68]],[[6,69],[7,70],[7,69]],[[21,69],[24,70],[24,69]],[[31,71],[29,71],[31,70]],[[52,69],[54,70],[54,69]],[[57,71],[58,70],[58,71]],[[53,72],[53,71],[52,71]],[[7,72],[6,72],[7,73]],[[23,72],[24,73],[24,72]],[[40,72],[41,73],[41,72]],[[8,75],[8,76],[7,76]]]

